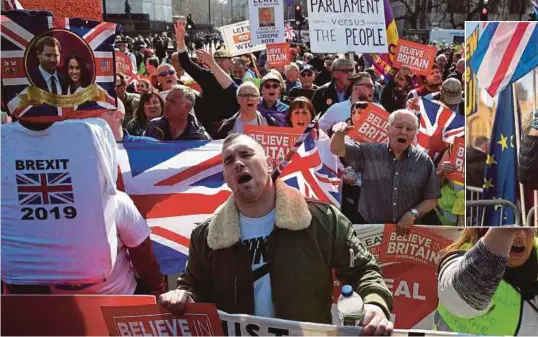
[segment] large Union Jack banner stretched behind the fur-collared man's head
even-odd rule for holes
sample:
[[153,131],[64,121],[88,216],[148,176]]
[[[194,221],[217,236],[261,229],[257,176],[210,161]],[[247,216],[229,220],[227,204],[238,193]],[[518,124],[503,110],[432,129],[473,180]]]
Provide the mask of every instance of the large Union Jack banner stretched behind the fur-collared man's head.
[[[303,146],[282,173],[282,180],[309,197],[339,200],[335,188],[339,179],[328,168],[332,164],[324,165],[325,156],[315,151],[311,138]],[[130,195],[147,219],[165,274],[184,270],[192,230],[231,194],[224,181],[221,150],[222,141],[120,145],[118,188]]]

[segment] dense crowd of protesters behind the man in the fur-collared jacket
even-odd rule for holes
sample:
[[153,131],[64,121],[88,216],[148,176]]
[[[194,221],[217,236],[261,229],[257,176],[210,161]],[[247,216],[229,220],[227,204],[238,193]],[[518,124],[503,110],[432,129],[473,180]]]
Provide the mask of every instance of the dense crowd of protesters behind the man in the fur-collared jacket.
[[[368,104],[373,104],[391,116],[401,110],[413,111],[394,114],[389,127],[391,151],[402,141],[398,138],[401,132],[396,129],[399,123],[412,124],[409,134],[403,137],[406,162],[415,153],[417,97],[463,114],[464,60],[454,46],[440,46],[427,76],[404,67],[392,78],[384,78],[363,57],[355,55],[351,61],[346,54],[312,53],[308,44],[292,43],[292,62],[277,68],[266,62],[265,52],[232,57],[216,43],[210,48],[198,45],[200,48],[191,52],[194,43],[189,42],[184,24],[178,23],[175,28],[176,41],[167,43],[177,50],[166,55],[144,52],[150,56],[137,69],[146,71],[139,71],[139,75],[149,75],[146,80],[127,85],[125,76],[117,74],[116,90],[126,109],[126,133],[164,141],[224,139],[231,133],[242,133],[246,124],[305,128],[320,114],[320,129],[333,136],[335,125],[353,125],[353,114],[357,112],[359,116]],[[210,36],[209,45],[213,37],[217,42],[216,36]],[[200,36],[196,39],[205,41]],[[124,49],[125,41],[120,37],[118,49],[133,55],[138,52],[139,40],[144,39],[135,39],[135,50],[129,50]],[[349,142],[350,137],[346,137],[346,143]],[[364,146],[370,145],[357,148]],[[387,170],[372,174],[366,166],[357,164],[358,158],[366,158],[363,151],[349,152],[351,158],[340,153],[339,169],[353,176],[352,180],[343,179],[342,210],[354,223],[461,222],[463,214],[453,211],[453,206],[463,185],[445,178],[456,167],[441,160],[443,153],[424,157],[417,151],[416,155],[422,158],[420,164],[413,161],[413,165],[400,167],[390,163],[394,156],[402,159],[398,153],[387,154],[384,162],[377,162],[387,152],[379,148],[368,154],[376,157],[372,169],[386,165]],[[392,179],[394,172],[401,172],[402,181]],[[417,177],[411,179],[412,175]],[[380,185],[386,186],[386,190],[380,190]],[[398,191],[393,195],[391,191],[395,189]],[[389,206],[394,208],[392,214],[386,212]]]

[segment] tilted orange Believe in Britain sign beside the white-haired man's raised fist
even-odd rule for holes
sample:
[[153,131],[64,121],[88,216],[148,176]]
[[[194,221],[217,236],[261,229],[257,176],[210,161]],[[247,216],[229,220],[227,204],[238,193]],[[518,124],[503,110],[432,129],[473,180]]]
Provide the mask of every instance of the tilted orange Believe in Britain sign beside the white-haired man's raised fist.
[[374,104],[368,104],[349,136],[359,142],[386,143],[388,131],[389,113]]

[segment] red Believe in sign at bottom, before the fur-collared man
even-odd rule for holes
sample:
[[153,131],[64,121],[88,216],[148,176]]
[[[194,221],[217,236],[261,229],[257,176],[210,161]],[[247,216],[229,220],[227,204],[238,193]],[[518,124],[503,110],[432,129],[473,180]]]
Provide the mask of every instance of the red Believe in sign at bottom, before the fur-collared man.
[[110,336],[223,336],[217,307],[188,303],[183,315],[158,304],[102,307]]

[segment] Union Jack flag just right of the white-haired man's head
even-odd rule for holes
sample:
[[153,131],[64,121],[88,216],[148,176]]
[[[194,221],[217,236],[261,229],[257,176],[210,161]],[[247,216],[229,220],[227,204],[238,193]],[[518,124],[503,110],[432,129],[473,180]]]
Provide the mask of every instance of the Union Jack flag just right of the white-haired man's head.
[[435,158],[454,143],[456,137],[465,135],[465,118],[440,102],[417,97],[408,102],[408,108],[419,115],[417,145]]

